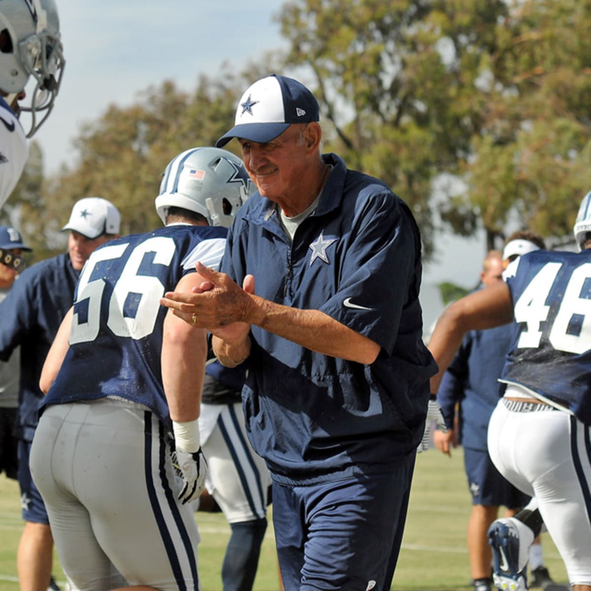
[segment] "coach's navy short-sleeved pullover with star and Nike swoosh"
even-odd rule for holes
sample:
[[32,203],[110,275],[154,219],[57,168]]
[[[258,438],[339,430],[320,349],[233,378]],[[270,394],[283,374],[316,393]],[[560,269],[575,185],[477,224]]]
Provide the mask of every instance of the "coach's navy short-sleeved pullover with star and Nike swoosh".
[[252,326],[246,428],[273,478],[314,483],[387,472],[421,439],[436,364],[422,340],[421,245],[408,207],[334,154],[316,211],[293,244],[255,193],[222,268],[285,306],[320,310],[381,346],[372,365],[321,355]]

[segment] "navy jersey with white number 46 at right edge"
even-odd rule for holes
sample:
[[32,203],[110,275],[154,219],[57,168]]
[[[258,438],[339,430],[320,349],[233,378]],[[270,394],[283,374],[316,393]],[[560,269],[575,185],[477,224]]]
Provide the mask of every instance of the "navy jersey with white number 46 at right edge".
[[591,424],[591,250],[523,255],[506,282],[517,326],[501,381]]

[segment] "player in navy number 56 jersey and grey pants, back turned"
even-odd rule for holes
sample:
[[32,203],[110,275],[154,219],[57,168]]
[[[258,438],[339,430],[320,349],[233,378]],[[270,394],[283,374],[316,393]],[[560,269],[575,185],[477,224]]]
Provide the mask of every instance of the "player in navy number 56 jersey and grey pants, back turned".
[[80,275],[41,376],[48,394],[31,451],[76,589],[112,589],[111,563],[141,589],[199,588],[190,501],[206,476],[199,426],[206,332],[159,300],[175,287],[199,288],[196,261],[219,265],[224,225],[248,186],[230,152],[183,152],[156,199],[165,227],[97,249]]

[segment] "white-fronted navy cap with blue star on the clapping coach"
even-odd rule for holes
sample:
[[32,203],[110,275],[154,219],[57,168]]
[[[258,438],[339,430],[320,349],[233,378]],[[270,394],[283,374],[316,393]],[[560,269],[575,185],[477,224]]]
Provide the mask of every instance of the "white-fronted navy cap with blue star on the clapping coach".
[[271,74],[245,90],[234,126],[216,141],[216,148],[232,138],[266,144],[291,124],[312,121],[320,121],[320,109],[310,90],[293,78]]

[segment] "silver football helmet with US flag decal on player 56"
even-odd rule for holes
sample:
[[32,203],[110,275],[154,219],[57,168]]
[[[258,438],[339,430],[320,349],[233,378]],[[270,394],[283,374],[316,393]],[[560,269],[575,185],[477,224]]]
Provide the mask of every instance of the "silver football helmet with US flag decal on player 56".
[[254,189],[242,160],[232,152],[191,148],[164,170],[156,211],[165,223],[169,207],[183,207],[206,217],[210,226],[229,228]]

